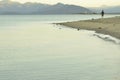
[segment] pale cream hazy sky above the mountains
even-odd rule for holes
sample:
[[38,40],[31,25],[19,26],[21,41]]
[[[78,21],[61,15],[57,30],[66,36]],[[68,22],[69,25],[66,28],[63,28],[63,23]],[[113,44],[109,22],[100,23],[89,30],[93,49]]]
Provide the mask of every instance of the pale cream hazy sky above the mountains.
[[58,2],[65,4],[76,4],[84,7],[100,7],[120,5],[120,0],[12,0],[18,2],[40,2],[47,4],[56,4]]

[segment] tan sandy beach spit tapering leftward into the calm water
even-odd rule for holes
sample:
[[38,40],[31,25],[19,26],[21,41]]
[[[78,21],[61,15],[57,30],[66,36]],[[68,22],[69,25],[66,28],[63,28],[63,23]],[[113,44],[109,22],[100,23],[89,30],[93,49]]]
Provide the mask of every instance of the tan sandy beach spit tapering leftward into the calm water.
[[82,21],[58,23],[72,28],[94,30],[97,33],[111,35],[120,39],[120,17],[100,18]]

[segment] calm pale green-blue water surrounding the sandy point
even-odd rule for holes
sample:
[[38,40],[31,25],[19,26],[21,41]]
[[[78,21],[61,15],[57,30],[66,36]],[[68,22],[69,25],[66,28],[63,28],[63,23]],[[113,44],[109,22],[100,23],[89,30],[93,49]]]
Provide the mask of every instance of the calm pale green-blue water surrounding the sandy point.
[[119,40],[50,24],[99,17],[0,16],[0,80],[120,80]]

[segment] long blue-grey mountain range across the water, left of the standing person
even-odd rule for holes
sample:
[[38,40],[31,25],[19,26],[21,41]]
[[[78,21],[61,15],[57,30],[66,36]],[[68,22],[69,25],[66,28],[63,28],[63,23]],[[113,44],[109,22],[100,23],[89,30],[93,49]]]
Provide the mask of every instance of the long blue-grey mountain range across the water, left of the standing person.
[[41,3],[19,3],[9,0],[0,1],[0,14],[79,14],[92,13],[91,10],[76,6],[58,3],[55,5]]

